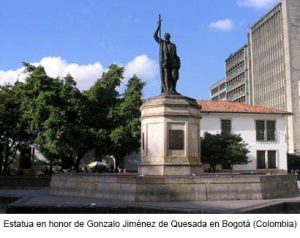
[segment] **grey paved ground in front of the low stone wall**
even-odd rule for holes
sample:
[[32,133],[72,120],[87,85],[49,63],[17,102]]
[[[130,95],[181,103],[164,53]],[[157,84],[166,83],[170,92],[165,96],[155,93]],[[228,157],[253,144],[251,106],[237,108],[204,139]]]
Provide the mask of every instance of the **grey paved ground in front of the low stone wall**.
[[[48,212],[56,213],[64,209],[67,213],[85,213],[93,211],[95,213],[266,213],[268,207],[271,213],[285,213],[282,209],[287,209],[285,204],[296,204],[292,211],[287,213],[300,212],[300,192],[289,198],[267,199],[267,200],[238,200],[238,201],[200,201],[200,202],[124,202],[100,200],[97,198],[83,197],[64,197],[53,196],[48,193],[48,188],[44,189],[27,189],[27,190],[0,190],[0,197],[16,197],[17,201],[10,204],[11,208],[18,211],[31,209],[31,213],[43,213],[45,208],[51,208]],[[299,205],[298,205],[299,204]],[[32,210],[33,209],[33,210]],[[35,210],[34,210],[35,209]],[[270,209],[269,209],[270,210]],[[39,211],[39,212],[35,212]],[[52,211],[52,212],[51,212]],[[97,212],[98,211],[98,212]],[[272,212],[273,211],[273,212]]]

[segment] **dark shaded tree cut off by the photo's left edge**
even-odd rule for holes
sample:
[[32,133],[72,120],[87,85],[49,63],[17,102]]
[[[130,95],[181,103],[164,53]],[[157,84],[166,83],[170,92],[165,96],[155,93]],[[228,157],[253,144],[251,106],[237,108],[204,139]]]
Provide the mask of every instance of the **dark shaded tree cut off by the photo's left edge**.
[[0,86],[0,174],[8,173],[29,135],[21,117],[20,83]]

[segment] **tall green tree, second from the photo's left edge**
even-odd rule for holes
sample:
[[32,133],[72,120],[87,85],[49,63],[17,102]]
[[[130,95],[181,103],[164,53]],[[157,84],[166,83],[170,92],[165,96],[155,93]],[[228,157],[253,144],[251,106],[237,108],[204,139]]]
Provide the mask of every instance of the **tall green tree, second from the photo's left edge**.
[[39,145],[52,170],[53,162],[66,150],[61,141],[65,125],[60,97],[63,83],[49,77],[42,66],[24,66],[28,76],[22,90],[22,115],[33,135],[31,143]]

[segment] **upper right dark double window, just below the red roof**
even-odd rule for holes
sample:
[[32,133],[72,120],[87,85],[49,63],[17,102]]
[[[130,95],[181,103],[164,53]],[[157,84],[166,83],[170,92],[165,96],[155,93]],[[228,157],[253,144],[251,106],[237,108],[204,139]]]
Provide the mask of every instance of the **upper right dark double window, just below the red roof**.
[[256,121],[256,140],[257,141],[275,141],[276,123],[275,121]]

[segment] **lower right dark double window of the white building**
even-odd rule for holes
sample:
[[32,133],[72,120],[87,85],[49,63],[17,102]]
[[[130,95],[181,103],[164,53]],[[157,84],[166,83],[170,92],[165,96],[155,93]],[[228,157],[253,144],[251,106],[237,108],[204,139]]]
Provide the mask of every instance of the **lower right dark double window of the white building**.
[[275,150],[258,150],[256,154],[257,169],[277,168],[277,153]]

